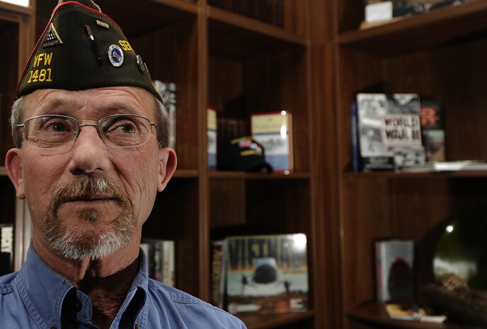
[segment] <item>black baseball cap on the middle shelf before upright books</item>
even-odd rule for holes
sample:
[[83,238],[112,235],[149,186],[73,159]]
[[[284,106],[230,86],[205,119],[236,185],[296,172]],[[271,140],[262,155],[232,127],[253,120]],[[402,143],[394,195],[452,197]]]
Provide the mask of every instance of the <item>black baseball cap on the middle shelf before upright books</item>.
[[220,171],[273,172],[273,167],[265,162],[263,146],[249,136],[232,139],[220,145],[217,168]]

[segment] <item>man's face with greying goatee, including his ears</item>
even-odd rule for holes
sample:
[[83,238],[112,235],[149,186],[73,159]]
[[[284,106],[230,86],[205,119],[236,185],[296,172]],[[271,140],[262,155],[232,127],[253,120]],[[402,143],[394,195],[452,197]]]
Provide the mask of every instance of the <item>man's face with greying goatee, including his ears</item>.
[[[21,122],[48,114],[74,117],[80,124],[121,113],[156,119],[154,96],[141,88],[47,89],[25,100]],[[22,149],[9,151],[6,163],[13,168],[8,171],[18,197],[28,202],[34,238],[67,258],[96,259],[140,233],[176,156],[159,149],[154,129],[142,146],[118,148],[106,145],[96,127],[85,126],[68,151],[35,149],[24,140]]]

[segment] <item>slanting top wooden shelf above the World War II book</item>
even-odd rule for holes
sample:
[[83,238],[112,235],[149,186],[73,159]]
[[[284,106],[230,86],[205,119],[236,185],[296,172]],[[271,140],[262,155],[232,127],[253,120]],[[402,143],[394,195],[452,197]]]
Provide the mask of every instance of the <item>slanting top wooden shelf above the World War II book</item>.
[[486,21],[487,2],[471,0],[373,28],[341,33],[338,44],[388,57],[483,37]]

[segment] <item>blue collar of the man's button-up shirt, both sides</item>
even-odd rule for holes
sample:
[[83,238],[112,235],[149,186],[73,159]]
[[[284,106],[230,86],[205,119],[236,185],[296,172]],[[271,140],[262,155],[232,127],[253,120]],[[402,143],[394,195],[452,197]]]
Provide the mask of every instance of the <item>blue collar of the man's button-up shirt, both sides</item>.
[[[61,328],[62,304],[69,290],[74,289],[74,287],[39,257],[32,244],[29,247],[25,264],[17,276],[17,281],[23,302],[31,316],[33,316],[33,319],[38,322],[38,325],[41,328],[45,326],[47,328]],[[144,298],[137,307],[140,308],[137,323],[144,328],[144,324],[147,321],[147,305],[145,300],[147,299],[148,282],[147,260],[144,253],[140,252],[139,272],[134,282],[132,282],[127,298],[122,303],[122,306],[120,306],[120,311],[115,317],[114,322],[120,321],[122,313],[130,305],[130,301],[132,301],[137,290],[140,289],[144,294]],[[140,301],[141,299],[137,300]]]

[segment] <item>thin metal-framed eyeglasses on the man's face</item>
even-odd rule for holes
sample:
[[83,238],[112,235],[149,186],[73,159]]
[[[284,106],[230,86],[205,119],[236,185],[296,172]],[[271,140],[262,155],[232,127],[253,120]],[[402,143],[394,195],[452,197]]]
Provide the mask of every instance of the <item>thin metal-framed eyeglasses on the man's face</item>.
[[81,125],[67,115],[38,115],[28,118],[17,128],[23,129],[25,141],[36,149],[67,151],[78,138],[81,127],[85,126],[96,127],[100,138],[109,146],[136,147],[147,143],[156,123],[133,114],[108,115],[96,125]]

